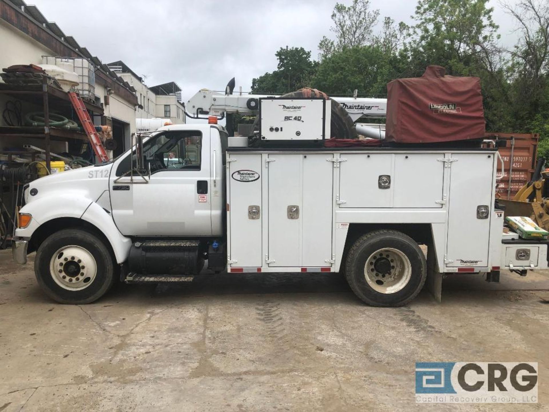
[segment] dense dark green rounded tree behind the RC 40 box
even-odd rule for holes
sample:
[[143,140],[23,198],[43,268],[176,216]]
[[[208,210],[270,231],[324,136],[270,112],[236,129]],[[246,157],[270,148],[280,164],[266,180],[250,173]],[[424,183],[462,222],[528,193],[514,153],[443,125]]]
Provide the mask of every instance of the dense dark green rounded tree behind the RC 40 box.
[[280,48],[275,53],[277,70],[253,79],[251,92],[255,94],[283,94],[310,85],[317,62],[311,60],[311,52],[302,47]]

